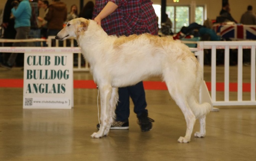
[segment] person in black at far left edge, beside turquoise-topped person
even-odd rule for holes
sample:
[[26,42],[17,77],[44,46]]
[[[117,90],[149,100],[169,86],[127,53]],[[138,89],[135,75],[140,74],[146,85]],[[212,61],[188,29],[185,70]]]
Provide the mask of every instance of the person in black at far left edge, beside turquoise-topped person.
[[[3,23],[1,26],[3,27],[3,39],[15,39],[16,30],[14,28],[14,18],[11,18],[11,8],[13,8],[13,1],[15,0],[7,0],[5,3],[5,7],[3,8]],[[12,42],[3,43],[5,47],[12,47]],[[2,53],[1,55],[1,64],[6,64],[10,53]]]

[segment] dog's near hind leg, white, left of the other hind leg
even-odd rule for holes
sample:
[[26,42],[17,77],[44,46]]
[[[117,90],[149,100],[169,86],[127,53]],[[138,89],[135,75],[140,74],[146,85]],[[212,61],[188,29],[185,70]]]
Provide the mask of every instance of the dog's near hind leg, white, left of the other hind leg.
[[[165,79],[166,80],[166,79]],[[177,80],[178,81],[178,80]],[[165,81],[168,87],[169,93],[172,96],[173,100],[180,107],[185,120],[186,120],[186,135],[185,137],[180,137],[178,142],[180,143],[188,143],[190,142],[191,134],[193,131],[194,123],[196,122],[196,117],[191,111],[187,99],[186,92],[182,90],[182,82],[173,83],[172,81]]]

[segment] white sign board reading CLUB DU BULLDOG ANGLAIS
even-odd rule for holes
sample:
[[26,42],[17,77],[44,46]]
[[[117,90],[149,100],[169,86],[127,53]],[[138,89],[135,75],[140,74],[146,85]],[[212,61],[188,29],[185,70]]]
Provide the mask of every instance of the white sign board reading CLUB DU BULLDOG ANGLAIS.
[[25,53],[23,79],[23,108],[73,106],[73,53]]

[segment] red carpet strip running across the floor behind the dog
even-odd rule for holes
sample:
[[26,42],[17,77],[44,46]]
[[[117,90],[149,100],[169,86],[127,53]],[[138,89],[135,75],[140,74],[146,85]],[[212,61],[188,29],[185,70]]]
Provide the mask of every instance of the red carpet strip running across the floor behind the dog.
[[[165,82],[143,81],[146,90],[167,90]],[[211,82],[206,82],[207,88],[211,91]],[[23,79],[0,79],[2,88],[23,88]],[[96,84],[92,80],[74,80],[75,89],[96,89]],[[237,83],[229,84],[230,92],[237,92]],[[224,91],[224,83],[216,83],[216,91]],[[243,92],[251,92],[251,84],[243,83]]]

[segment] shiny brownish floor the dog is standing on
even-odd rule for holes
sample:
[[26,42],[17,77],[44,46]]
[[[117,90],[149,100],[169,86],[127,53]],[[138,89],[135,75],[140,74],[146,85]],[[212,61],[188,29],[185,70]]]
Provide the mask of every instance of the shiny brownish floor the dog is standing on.
[[[221,81],[224,67],[217,69]],[[204,70],[205,80],[210,81],[210,67]],[[0,79],[23,79],[20,68],[0,68],[0,72]],[[92,77],[75,72],[74,79]],[[221,106],[207,116],[205,138],[192,136],[190,143],[178,143],[186,122],[165,90],[146,90],[149,117],[155,120],[152,131],[140,131],[131,104],[130,129],[110,130],[100,139],[90,137],[97,131],[96,89],[75,89],[73,109],[23,109],[22,99],[22,88],[0,88],[0,161],[250,161],[256,157],[254,106]],[[198,130],[197,121],[193,133]]]

